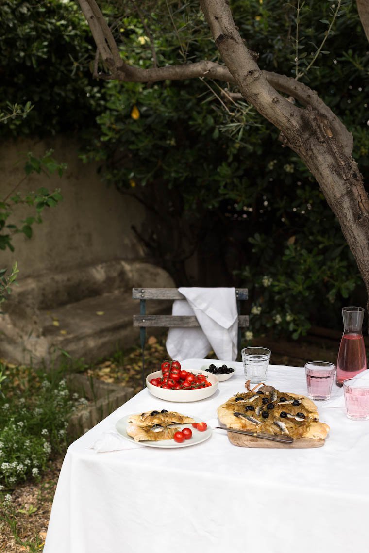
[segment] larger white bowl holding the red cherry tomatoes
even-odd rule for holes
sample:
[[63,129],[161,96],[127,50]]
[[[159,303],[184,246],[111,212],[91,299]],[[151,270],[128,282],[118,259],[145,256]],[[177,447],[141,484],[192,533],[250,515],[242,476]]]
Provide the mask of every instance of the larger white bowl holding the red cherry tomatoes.
[[147,389],[150,394],[153,394],[155,397],[164,399],[165,401],[176,401],[178,403],[183,403],[185,401],[199,401],[200,399],[209,398],[212,394],[215,394],[218,389],[219,379],[215,374],[208,373],[206,371],[193,371],[195,374],[205,374],[211,386],[206,388],[198,388],[194,390],[173,390],[169,388],[159,388],[150,384],[150,380],[153,378],[161,378],[162,371],[155,371],[148,375],[146,379]]

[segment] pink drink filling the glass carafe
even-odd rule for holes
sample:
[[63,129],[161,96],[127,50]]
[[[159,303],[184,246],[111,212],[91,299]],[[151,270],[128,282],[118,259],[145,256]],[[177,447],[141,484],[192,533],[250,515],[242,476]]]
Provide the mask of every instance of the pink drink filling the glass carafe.
[[361,332],[345,332],[337,358],[336,383],[342,386],[347,378],[354,378],[366,369],[364,338]]

